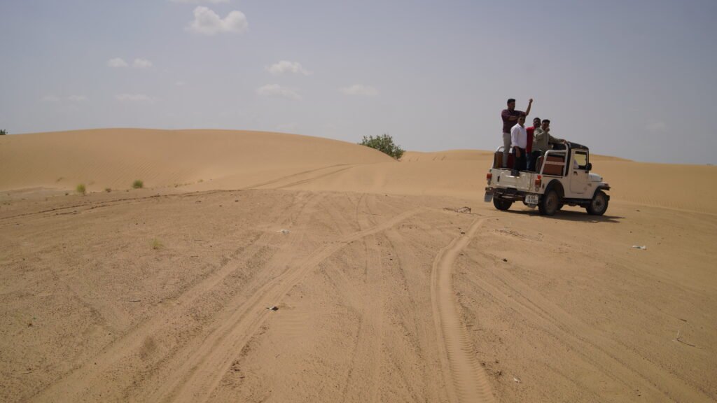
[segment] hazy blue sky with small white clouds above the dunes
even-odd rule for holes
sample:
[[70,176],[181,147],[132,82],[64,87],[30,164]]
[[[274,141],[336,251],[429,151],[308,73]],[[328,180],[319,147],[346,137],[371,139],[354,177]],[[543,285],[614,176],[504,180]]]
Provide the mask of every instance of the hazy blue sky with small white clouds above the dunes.
[[3,1],[0,128],[227,128],[717,163],[717,1]]

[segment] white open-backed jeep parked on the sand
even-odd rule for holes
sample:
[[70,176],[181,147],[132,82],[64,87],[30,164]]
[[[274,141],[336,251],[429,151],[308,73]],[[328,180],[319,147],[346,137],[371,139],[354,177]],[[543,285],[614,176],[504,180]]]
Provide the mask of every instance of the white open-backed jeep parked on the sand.
[[[512,159],[511,153],[508,166],[513,166]],[[516,173],[502,165],[503,147],[499,147],[485,188],[485,202],[493,200],[496,209],[507,210],[514,201],[523,201],[549,216],[565,204],[585,207],[593,215],[607,211],[610,196],[605,191],[610,186],[602,176],[590,172],[590,151],[585,146],[567,143],[564,150],[548,151],[538,158],[535,172]]]

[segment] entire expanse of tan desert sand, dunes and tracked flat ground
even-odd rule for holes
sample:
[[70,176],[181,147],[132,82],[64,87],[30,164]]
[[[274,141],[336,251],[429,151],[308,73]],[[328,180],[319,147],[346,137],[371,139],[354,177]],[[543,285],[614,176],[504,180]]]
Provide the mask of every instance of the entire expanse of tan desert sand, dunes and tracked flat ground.
[[492,158],[1,136],[0,401],[716,401],[717,168],[592,156],[607,213],[541,217]]

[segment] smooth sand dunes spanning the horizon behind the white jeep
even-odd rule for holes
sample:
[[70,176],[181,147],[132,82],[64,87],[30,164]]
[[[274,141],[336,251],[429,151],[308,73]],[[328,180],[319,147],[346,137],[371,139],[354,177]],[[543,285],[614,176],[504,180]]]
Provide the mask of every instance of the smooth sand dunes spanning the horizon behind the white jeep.
[[[717,214],[716,166],[593,156],[614,201]],[[356,144],[247,131],[105,129],[0,138],[0,190],[306,189],[480,197],[493,153],[409,151],[397,163]]]

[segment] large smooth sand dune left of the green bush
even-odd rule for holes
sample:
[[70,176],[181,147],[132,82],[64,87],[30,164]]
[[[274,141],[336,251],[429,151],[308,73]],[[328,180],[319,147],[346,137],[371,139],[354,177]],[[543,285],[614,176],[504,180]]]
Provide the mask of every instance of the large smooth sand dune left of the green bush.
[[0,138],[0,189],[128,189],[232,176],[235,188],[326,166],[391,162],[328,138],[258,131],[113,128]]

